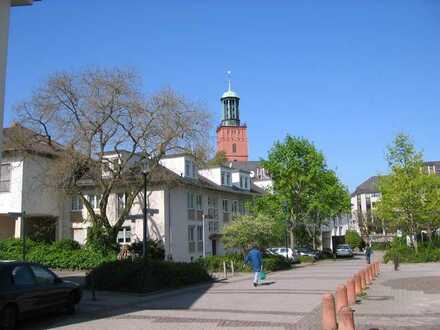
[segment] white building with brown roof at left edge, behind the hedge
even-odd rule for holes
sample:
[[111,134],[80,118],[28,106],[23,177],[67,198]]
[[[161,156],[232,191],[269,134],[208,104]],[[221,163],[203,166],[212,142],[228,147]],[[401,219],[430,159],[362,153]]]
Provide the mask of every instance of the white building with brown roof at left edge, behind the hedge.
[[[0,160],[0,239],[21,237],[21,217],[14,219],[8,213],[26,213],[26,232],[33,226],[52,228],[52,239],[64,237],[65,198],[47,184],[51,162],[56,153],[45,142],[37,142],[35,133],[19,125],[4,130],[4,153]],[[17,136],[32,140],[32,150],[17,150]],[[43,140],[41,140],[43,141]],[[53,145],[57,147],[56,143]]]

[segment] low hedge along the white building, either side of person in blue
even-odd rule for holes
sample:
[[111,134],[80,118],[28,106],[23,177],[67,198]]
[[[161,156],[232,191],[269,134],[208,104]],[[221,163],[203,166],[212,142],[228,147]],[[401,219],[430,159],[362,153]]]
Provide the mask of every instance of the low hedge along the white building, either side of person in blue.
[[[234,270],[237,272],[251,272],[250,265],[244,264],[244,258],[240,254],[230,254],[226,256],[208,256],[200,258],[197,263],[208,272],[223,272],[223,262],[226,262],[228,269],[231,267],[231,261],[234,262]],[[290,269],[290,263],[282,256],[263,257],[263,268],[265,271],[276,271]]]

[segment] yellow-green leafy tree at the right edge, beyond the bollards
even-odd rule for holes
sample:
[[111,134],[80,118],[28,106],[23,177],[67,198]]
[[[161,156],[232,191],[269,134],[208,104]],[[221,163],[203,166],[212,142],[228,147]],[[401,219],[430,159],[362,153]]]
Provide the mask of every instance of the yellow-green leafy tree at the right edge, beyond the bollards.
[[417,233],[438,224],[440,178],[423,170],[422,154],[405,134],[396,136],[386,159],[390,174],[380,178],[376,212],[391,228],[408,233],[417,253]]

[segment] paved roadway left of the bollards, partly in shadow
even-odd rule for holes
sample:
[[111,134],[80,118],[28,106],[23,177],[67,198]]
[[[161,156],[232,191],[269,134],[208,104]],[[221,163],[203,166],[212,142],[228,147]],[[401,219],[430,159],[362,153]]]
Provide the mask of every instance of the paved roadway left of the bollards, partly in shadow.
[[258,288],[245,275],[154,296],[98,292],[95,302],[86,293],[77,315],[23,329],[320,329],[322,295],[364,264],[360,257],[322,261],[269,274]]

